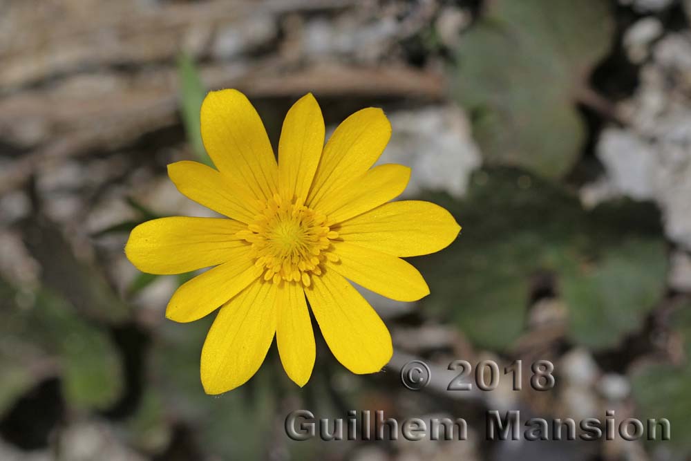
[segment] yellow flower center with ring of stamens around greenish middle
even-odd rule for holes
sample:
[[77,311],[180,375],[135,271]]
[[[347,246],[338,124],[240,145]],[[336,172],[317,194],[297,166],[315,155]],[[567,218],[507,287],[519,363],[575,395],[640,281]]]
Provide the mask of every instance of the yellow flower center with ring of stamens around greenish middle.
[[339,234],[329,228],[326,216],[278,194],[238,236],[252,244],[250,257],[265,281],[296,281],[308,287],[311,277],[321,274],[324,261],[338,261],[330,247]]

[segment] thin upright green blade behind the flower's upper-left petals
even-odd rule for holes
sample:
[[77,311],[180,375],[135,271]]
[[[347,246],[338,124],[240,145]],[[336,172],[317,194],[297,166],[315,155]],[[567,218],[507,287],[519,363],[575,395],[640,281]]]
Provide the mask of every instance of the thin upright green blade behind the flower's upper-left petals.
[[181,53],[178,56],[178,79],[180,80],[180,111],[182,111],[184,130],[187,133],[187,142],[200,162],[213,166],[204,149],[200,126],[200,109],[207,91],[192,58],[187,53]]

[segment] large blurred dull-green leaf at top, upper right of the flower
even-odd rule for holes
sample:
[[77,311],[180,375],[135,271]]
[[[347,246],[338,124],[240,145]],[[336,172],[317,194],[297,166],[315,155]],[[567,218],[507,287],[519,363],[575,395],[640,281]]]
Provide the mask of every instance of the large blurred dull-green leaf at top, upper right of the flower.
[[493,164],[556,178],[585,142],[578,93],[612,40],[605,0],[493,0],[460,38],[453,94]]

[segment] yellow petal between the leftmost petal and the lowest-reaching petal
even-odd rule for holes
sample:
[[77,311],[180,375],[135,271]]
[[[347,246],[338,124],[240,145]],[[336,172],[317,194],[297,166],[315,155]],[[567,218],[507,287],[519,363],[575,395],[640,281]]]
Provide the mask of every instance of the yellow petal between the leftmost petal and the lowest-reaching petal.
[[234,297],[259,274],[253,270],[247,247],[239,247],[227,263],[183,283],[168,303],[166,317],[177,322],[201,319]]

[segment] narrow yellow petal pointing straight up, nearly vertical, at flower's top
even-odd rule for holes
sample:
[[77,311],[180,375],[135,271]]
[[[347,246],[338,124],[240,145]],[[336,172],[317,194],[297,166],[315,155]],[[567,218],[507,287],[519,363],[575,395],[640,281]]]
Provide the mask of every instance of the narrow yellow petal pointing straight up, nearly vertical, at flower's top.
[[324,119],[312,93],[298,100],[285,115],[278,141],[278,189],[304,203],[324,148]]

